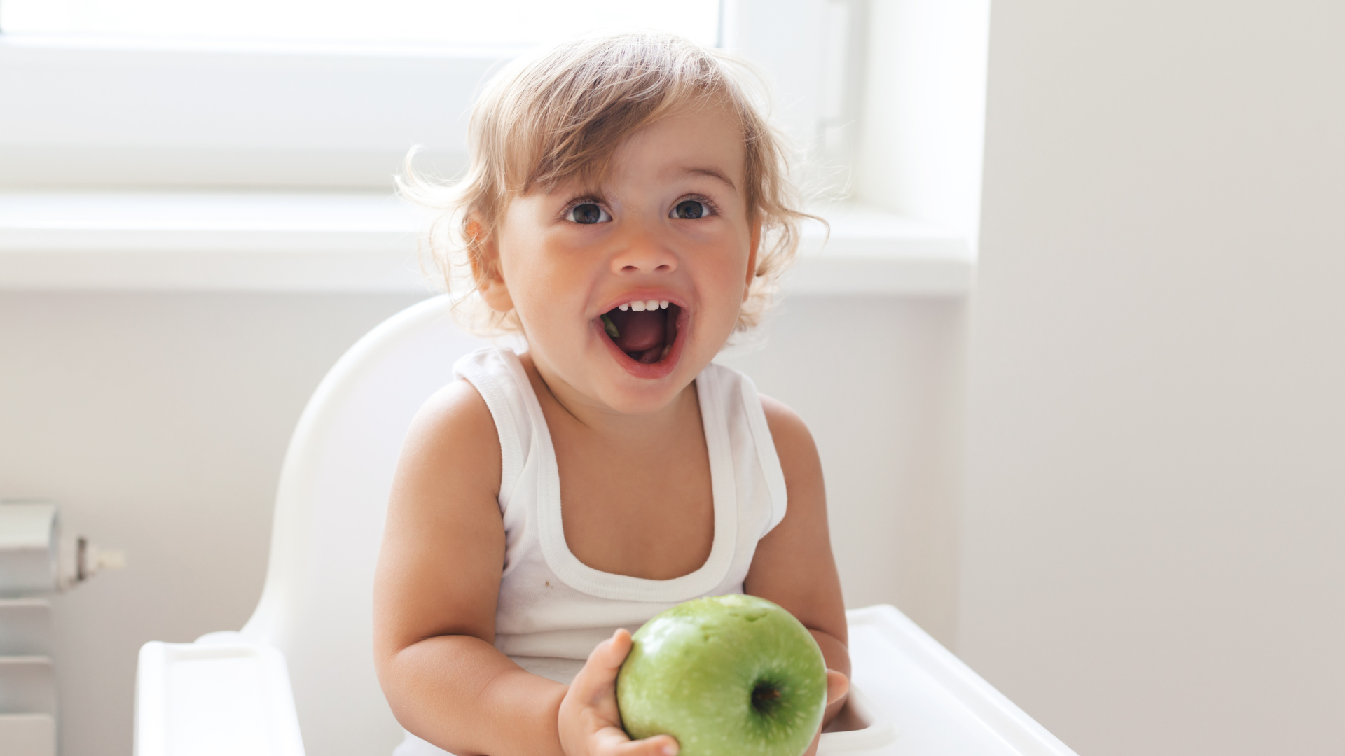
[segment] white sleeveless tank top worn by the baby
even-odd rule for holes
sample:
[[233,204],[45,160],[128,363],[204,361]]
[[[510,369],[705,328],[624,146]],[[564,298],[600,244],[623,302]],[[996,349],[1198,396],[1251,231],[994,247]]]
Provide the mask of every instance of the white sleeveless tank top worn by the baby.
[[[500,440],[504,573],[495,647],[525,670],[569,683],[593,647],[619,627],[701,596],[741,593],[757,541],[784,519],[780,457],[746,375],[710,363],[695,378],[710,456],[714,541],[701,569],[672,580],[596,570],[565,543],[561,475],[542,405],[518,355],[475,351],[453,366],[486,400]],[[408,733],[397,756],[444,753]]]

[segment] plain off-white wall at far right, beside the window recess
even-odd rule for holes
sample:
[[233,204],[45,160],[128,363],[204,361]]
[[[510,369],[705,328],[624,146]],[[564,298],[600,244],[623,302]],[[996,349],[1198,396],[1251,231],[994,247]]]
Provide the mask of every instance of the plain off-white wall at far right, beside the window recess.
[[1345,752],[1342,39],[994,8],[958,651],[1080,753]]

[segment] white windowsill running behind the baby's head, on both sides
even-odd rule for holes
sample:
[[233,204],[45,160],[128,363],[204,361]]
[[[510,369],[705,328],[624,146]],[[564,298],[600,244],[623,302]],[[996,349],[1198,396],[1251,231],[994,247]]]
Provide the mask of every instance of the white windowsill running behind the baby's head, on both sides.
[[[794,293],[962,296],[966,238],[854,206],[804,229]],[[363,192],[0,192],[0,289],[428,292],[424,215]]]

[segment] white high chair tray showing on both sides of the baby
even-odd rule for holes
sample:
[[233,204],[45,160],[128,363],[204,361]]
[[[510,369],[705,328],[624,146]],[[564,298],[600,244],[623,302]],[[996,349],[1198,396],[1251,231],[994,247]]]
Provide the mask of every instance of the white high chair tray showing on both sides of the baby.
[[[1075,756],[896,608],[847,617],[851,701],[819,756]],[[303,756],[284,656],[235,632],[147,643],[134,752]]]

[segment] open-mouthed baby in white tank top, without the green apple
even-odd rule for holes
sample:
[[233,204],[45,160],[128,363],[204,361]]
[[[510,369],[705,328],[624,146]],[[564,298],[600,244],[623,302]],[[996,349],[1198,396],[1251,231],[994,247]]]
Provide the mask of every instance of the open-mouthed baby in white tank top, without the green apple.
[[725,593],[812,632],[830,721],[850,663],[816,449],[710,362],[802,217],[740,69],[658,34],[518,62],[455,191],[451,291],[526,350],[463,358],[402,449],[374,608],[398,753],[674,756],[621,730],[616,673],[647,619]]

